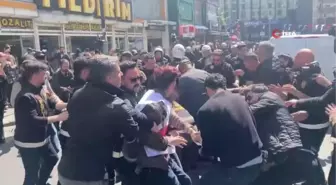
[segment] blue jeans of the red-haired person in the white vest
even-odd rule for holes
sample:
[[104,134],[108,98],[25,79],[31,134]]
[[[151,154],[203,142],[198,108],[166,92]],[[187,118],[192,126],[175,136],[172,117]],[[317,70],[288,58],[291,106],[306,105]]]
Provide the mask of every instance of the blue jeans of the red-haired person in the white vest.
[[169,159],[168,171],[158,168],[144,168],[140,172],[141,185],[191,185],[190,177],[176,163]]

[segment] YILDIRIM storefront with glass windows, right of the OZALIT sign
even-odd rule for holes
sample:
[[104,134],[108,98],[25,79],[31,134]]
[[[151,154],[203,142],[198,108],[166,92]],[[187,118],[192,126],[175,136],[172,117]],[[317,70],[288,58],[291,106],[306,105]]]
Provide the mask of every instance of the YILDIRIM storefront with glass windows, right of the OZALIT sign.
[[[132,5],[129,1],[112,0],[104,4],[106,18],[106,37],[103,37],[99,4],[81,5],[69,1],[52,2],[36,0],[39,17],[34,20],[35,44],[37,49],[48,49],[54,53],[59,46],[67,52],[100,48],[100,39],[107,39],[107,48],[127,50],[133,47],[147,48],[144,40],[144,25],[132,23]],[[99,1],[90,1],[98,3]],[[98,7],[98,8],[97,8]],[[115,8],[112,8],[115,7]],[[64,10],[63,12],[59,10]],[[47,48],[44,48],[47,47]],[[107,51],[105,50],[105,52]]]

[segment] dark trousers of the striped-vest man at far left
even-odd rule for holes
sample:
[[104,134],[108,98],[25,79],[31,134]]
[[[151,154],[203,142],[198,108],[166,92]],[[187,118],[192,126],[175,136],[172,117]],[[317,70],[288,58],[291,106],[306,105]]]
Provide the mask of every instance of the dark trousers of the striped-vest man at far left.
[[39,148],[17,147],[25,169],[23,185],[46,185],[58,161],[49,147],[48,144]]

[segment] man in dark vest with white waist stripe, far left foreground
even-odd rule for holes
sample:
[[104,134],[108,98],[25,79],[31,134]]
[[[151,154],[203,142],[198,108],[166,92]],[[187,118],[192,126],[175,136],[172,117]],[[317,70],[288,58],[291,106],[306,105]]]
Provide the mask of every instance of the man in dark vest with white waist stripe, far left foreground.
[[15,99],[14,144],[25,169],[24,185],[46,185],[57,163],[52,153],[49,126],[68,118],[68,112],[48,116],[48,105],[62,110],[64,103],[56,94],[43,89],[48,66],[42,62],[24,61],[20,79],[22,88]]

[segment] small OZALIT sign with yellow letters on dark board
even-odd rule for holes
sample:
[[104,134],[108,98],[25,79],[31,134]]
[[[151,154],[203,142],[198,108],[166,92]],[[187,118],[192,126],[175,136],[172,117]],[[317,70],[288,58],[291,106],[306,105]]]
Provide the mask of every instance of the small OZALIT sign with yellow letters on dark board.
[[0,17],[1,28],[33,29],[32,19]]

